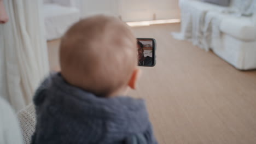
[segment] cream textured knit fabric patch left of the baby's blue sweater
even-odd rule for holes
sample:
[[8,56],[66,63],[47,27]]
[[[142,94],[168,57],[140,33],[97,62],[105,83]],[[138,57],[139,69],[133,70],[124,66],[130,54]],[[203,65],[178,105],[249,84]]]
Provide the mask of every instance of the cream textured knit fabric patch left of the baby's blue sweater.
[[31,103],[18,112],[18,119],[22,131],[24,144],[31,143],[31,136],[36,127],[36,110]]

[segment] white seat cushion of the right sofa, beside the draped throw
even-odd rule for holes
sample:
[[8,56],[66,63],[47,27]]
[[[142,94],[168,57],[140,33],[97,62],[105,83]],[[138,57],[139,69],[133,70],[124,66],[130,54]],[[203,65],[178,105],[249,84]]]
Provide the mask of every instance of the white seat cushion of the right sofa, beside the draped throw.
[[226,16],[220,22],[220,31],[229,34],[237,39],[254,41],[256,40],[256,26],[252,17]]

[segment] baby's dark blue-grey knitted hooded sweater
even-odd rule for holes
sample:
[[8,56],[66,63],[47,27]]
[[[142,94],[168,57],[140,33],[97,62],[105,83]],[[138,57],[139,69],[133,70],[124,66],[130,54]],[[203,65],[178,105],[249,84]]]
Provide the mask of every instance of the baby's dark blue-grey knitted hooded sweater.
[[102,98],[49,76],[34,95],[33,144],[157,143],[143,100]]

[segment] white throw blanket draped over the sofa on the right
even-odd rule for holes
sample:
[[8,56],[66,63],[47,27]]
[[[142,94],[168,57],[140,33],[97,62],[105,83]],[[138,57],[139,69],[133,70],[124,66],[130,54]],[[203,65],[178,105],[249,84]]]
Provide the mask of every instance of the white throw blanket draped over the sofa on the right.
[[[248,7],[247,13],[253,13],[256,8],[256,0],[247,0],[246,2],[237,0],[234,1],[231,7],[220,7],[218,10],[213,7],[201,7],[195,6],[199,1],[193,1],[194,5],[191,5],[189,1],[182,2],[181,6],[181,32],[171,33],[174,39],[177,40],[190,40],[194,45],[201,47],[202,49],[209,51],[210,47],[221,47],[218,46],[221,44],[219,30],[220,22],[227,15],[236,15],[241,16],[241,10],[245,11],[243,8],[247,8],[251,4],[251,7]],[[239,11],[240,10],[240,11]],[[208,13],[210,11],[216,13],[222,13],[221,15],[214,15],[214,13]],[[214,43],[212,43],[214,39]]]

